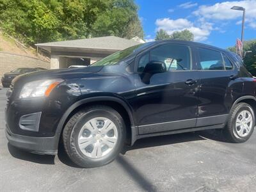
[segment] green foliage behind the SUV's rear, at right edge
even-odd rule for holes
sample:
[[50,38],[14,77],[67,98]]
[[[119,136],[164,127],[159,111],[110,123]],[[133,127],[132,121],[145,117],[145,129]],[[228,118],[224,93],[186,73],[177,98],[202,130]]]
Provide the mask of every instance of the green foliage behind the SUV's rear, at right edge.
[[[229,51],[236,52],[236,47],[228,47]],[[256,76],[256,39],[244,41],[243,44],[243,52],[247,52],[246,56],[243,58],[244,65],[246,66],[247,70],[253,75]]]

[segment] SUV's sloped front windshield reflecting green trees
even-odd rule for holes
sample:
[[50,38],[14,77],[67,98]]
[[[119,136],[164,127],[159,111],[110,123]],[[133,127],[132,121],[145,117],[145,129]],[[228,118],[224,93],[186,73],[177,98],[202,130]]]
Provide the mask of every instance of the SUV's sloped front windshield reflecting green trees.
[[139,44],[129,47],[123,51],[115,52],[114,54],[111,54],[106,58],[93,63],[92,66],[115,65],[119,61],[124,60],[124,58],[132,54],[132,52],[136,51],[136,49],[138,49],[139,47],[145,47],[145,45],[146,44]]

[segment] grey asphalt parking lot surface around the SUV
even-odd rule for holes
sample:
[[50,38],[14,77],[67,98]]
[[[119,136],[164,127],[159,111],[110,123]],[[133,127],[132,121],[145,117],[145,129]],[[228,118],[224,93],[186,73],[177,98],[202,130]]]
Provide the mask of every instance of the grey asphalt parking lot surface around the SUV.
[[0,191],[256,191],[256,132],[226,143],[221,132],[146,138],[113,163],[83,169],[58,156],[29,154],[5,138],[0,90]]

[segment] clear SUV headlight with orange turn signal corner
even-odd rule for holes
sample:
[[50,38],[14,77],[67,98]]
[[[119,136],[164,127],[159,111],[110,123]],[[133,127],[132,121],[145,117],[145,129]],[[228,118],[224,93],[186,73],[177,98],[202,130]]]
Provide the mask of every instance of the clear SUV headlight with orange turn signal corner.
[[62,81],[63,79],[44,79],[26,83],[20,92],[20,98],[48,97]]

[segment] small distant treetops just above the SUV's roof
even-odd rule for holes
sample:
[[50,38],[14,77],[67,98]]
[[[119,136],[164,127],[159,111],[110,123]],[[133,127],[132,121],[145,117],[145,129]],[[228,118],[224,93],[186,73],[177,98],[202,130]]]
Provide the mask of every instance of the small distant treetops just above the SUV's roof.
[[172,33],[172,35],[168,35],[168,33],[163,29],[160,29],[159,31],[157,31],[155,40],[165,40],[165,39],[193,41],[194,35],[188,29],[184,29],[183,31],[175,31]]

